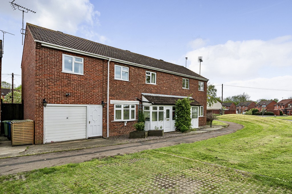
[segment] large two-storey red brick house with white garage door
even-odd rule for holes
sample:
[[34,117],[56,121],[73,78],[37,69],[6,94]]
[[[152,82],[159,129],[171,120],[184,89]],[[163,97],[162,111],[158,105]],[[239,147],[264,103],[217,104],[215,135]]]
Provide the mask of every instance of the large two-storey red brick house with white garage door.
[[175,100],[189,95],[192,127],[206,124],[203,76],[33,24],[26,32],[22,100],[24,119],[35,121],[36,144],[128,134],[138,110],[146,130],[174,131]]

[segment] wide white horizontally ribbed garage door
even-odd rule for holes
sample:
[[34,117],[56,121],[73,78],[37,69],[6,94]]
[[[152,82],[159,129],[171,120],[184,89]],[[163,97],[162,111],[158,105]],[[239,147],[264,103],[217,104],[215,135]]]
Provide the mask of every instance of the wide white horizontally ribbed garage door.
[[45,143],[86,138],[86,106],[46,106]]

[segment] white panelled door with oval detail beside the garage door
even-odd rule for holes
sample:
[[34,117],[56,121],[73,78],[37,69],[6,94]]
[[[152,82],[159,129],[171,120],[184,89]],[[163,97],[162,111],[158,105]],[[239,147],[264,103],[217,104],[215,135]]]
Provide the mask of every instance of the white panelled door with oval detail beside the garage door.
[[102,136],[102,106],[88,106],[88,137]]

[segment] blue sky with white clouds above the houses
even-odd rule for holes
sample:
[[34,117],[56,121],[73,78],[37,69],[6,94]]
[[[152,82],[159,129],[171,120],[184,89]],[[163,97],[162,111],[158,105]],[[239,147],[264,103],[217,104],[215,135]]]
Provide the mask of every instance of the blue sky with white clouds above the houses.
[[[14,2],[36,11],[25,13],[25,22],[178,65],[188,57],[187,68],[197,73],[203,56],[201,75],[217,86],[218,96],[221,84],[223,97],[292,96],[292,1]],[[15,34],[4,35],[2,81],[10,81],[5,74],[21,74],[22,12],[8,0],[1,3],[0,30]]]

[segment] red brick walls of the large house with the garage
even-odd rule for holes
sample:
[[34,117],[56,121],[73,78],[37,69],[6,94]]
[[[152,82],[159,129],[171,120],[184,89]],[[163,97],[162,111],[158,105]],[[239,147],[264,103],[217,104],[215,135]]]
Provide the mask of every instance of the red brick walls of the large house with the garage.
[[[97,59],[65,51],[41,47],[32,40],[30,33],[25,38],[24,56],[22,59],[22,92],[25,99],[24,117],[35,121],[35,143],[42,144],[44,138],[44,106],[48,104],[101,104],[107,101],[107,60]],[[34,55],[34,48],[35,55]],[[62,73],[62,54],[84,58],[84,75]],[[114,79],[114,65],[129,67],[129,81]],[[157,85],[145,83],[146,69],[110,62],[109,100],[142,99],[141,93],[181,95],[192,97],[204,106],[206,115],[206,89],[198,91],[198,80],[190,79],[190,89],[182,88],[182,76],[157,73]],[[149,70],[147,70],[149,71]],[[103,87],[102,87],[103,86]],[[69,97],[65,94],[70,93]],[[108,103],[103,108],[103,136],[107,136],[107,106],[109,106],[109,136],[126,134],[133,131],[137,121],[112,122],[114,104]],[[136,108],[138,118],[138,106]],[[199,126],[206,124],[206,117],[199,118]]]

